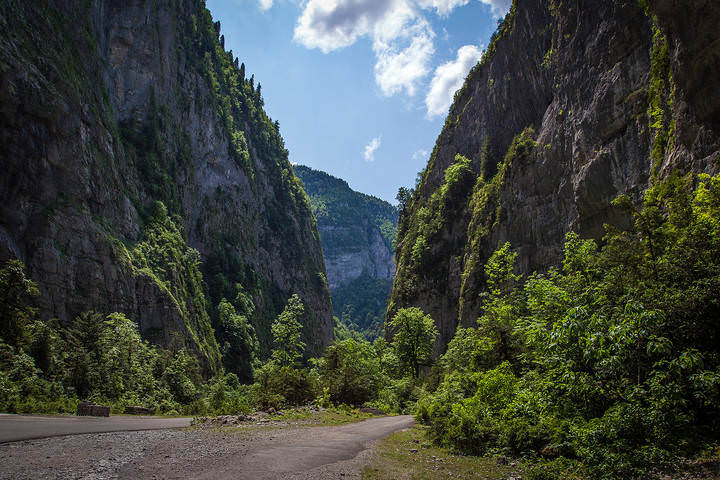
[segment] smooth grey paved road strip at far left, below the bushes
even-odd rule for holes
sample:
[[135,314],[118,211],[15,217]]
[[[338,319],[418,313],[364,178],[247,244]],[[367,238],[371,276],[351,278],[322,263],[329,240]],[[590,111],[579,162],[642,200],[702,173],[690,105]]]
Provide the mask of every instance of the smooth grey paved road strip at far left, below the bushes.
[[192,418],[75,417],[0,414],[0,443],[81,433],[157,430],[190,426]]

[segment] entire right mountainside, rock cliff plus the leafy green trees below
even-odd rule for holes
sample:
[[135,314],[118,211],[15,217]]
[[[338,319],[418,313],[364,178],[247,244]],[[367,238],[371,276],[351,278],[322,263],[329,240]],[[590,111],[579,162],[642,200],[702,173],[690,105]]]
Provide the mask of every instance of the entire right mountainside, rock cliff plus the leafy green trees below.
[[523,478],[713,458],[719,17],[513,2],[399,195],[387,319],[419,307],[439,331],[416,411],[434,441],[534,459]]

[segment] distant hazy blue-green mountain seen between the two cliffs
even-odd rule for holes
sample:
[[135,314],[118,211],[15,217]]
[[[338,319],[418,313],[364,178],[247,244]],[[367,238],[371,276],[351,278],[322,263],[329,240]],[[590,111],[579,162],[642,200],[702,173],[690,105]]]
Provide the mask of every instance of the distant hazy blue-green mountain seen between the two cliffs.
[[397,209],[325,172],[294,170],[317,219],[335,315],[379,330],[395,276]]

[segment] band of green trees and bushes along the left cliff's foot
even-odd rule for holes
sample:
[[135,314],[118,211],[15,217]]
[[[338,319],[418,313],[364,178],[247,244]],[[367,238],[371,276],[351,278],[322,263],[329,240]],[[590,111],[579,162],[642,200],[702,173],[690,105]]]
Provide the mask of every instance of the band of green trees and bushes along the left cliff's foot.
[[[220,338],[237,337],[232,345],[222,344],[224,359],[246,365],[252,377],[239,378],[220,366],[207,379],[183,338],[176,336],[168,348],[152,345],[123,314],[89,311],[65,327],[56,320],[40,320],[34,306],[37,285],[25,276],[20,262],[0,269],[0,293],[4,412],[71,413],[80,400],[88,399],[111,405],[113,413],[140,405],[163,414],[239,414],[312,402],[408,411],[417,400],[417,380],[411,376],[417,375],[418,361],[429,360],[434,341],[432,329],[412,348],[407,341],[388,344],[378,339],[370,344],[348,338],[335,342],[322,357],[306,360],[300,323],[305,306],[293,295],[272,324],[273,349],[263,364],[256,356],[252,326],[232,303],[222,300]],[[424,318],[415,311],[399,315]],[[407,340],[414,331],[401,326],[398,339]]]

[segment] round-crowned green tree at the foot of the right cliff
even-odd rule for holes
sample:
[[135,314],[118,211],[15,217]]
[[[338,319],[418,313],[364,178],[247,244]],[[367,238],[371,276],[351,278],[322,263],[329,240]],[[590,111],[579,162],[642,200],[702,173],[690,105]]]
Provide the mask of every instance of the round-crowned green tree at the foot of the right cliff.
[[401,308],[388,324],[393,332],[393,347],[403,368],[413,378],[420,376],[420,367],[430,365],[435,338],[435,321],[417,307]]

